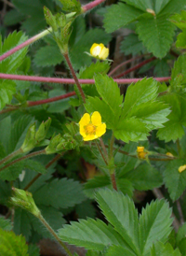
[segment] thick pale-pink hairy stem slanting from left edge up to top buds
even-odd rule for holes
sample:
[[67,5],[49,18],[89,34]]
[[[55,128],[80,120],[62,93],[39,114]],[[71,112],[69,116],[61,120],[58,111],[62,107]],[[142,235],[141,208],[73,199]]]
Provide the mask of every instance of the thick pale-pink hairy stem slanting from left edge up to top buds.
[[0,62],[2,62],[3,60],[5,60],[8,56],[12,55],[13,53],[15,53],[18,50],[21,50],[22,48],[32,44],[33,42],[39,40],[40,38],[48,35],[49,33],[52,32],[52,28],[49,27],[48,29],[44,30],[43,32],[37,34],[36,36],[31,37],[30,39],[26,40],[25,42],[23,42],[22,44],[20,44],[19,46],[8,50],[6,53],[4,53],[3,55],[0,56]]

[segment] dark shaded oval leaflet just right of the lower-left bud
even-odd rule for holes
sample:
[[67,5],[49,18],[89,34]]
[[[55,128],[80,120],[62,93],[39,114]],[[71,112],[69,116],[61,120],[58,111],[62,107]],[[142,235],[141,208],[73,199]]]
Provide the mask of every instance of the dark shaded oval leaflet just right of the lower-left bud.
[[80,183],[67,178],[55,178],[46,183],[33,193],[33,198],[37,205],[56,208],[75,206],[86,199]]

